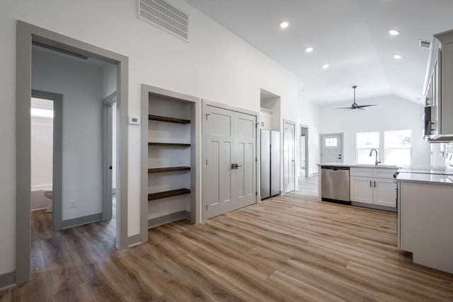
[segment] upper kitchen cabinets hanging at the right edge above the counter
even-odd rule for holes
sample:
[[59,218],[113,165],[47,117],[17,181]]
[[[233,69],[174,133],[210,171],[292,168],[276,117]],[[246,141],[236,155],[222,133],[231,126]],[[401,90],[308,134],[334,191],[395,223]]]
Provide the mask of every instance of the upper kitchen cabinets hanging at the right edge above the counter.
[[428,141],[453,141],[453,30],[432,38],[423,93]]

